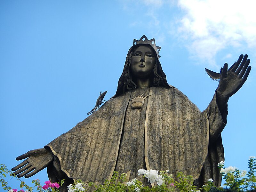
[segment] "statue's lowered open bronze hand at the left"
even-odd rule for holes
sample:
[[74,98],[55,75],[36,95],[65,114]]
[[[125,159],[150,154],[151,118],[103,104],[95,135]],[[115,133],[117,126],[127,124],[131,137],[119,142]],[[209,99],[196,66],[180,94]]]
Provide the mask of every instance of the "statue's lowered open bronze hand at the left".
[[47,167],[53,160],[52,152],[45,148],[28,151],[16,157],[16,160],[19,161],[25,158],[27,159],[12,168],[12,171],[15,171],[14,174],[19,178],[23,176],[28,178],[35,175],[37,172]]

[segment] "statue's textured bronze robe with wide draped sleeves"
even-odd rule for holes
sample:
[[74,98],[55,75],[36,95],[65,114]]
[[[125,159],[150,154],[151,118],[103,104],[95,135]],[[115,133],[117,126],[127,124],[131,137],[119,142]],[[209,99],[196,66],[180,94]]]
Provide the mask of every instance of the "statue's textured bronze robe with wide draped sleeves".
[[[132,109],[130,99],[141,92],[150,96],[142,108]],[[131,170],[133,179],[141,168],[168,169],[174,176],[179,171],[192,175],[198,186],[209,178],[220,186],[222,118],[216,95],[201,112],[174,87],[127,91],[46,145],[55,156],[49,178],[63,179],[62,172],[74,180],[102,184],[113,171]]]

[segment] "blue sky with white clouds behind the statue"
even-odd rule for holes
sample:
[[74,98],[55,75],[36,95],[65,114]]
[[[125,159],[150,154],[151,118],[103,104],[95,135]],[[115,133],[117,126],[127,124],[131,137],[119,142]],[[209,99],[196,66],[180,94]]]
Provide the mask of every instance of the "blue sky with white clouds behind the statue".
[[[226,165],[246,170],[249,156],[256,156],[253,7],[249,0],[1,0],[0,163],[11,169],[16,156],[84,120],[100,91],[111,98],[133,38],[145,34],[162,47],[168,83],[200,110],[218,86],[204,68],[219,71],[249,55],[251,73],[228,101],[222,132]],[[47,180],[46,169],[32,179]]]

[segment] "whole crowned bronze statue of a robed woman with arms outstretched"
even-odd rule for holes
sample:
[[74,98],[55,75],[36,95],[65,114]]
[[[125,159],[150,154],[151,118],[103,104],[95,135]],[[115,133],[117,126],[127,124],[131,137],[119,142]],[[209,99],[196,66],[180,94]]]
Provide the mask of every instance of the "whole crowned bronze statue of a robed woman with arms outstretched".
[[[246,81],[251,66],[240,55],[228,70],[225,63],[209,106],[201,112],[169,85],[155,39],[144,35],[129,49],[116,95],[91,116],[44,148],[28,151],[12,168],[26,178],[45,167],[49,179],[103,183],[114,171],[139,178],[143,169],[178,171],[202,186],[209,178],[220,186],[217,163],[224,160],[221,131],[227,123],[227,102]],[[146,180],[145,180],[146,183]]]

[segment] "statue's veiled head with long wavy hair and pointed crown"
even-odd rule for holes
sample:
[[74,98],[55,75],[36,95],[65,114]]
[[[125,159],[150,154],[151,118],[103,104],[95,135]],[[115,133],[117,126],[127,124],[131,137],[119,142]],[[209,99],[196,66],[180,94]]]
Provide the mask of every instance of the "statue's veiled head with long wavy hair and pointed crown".
[[115,97],[137,88],[138,78],[149,79],[149,86],[170,87],[159,61],[158,53],[161,47],[156,46],[155,39],[148,40],[144,35],[139,41],[134,39],[133,44],[128,51]]

